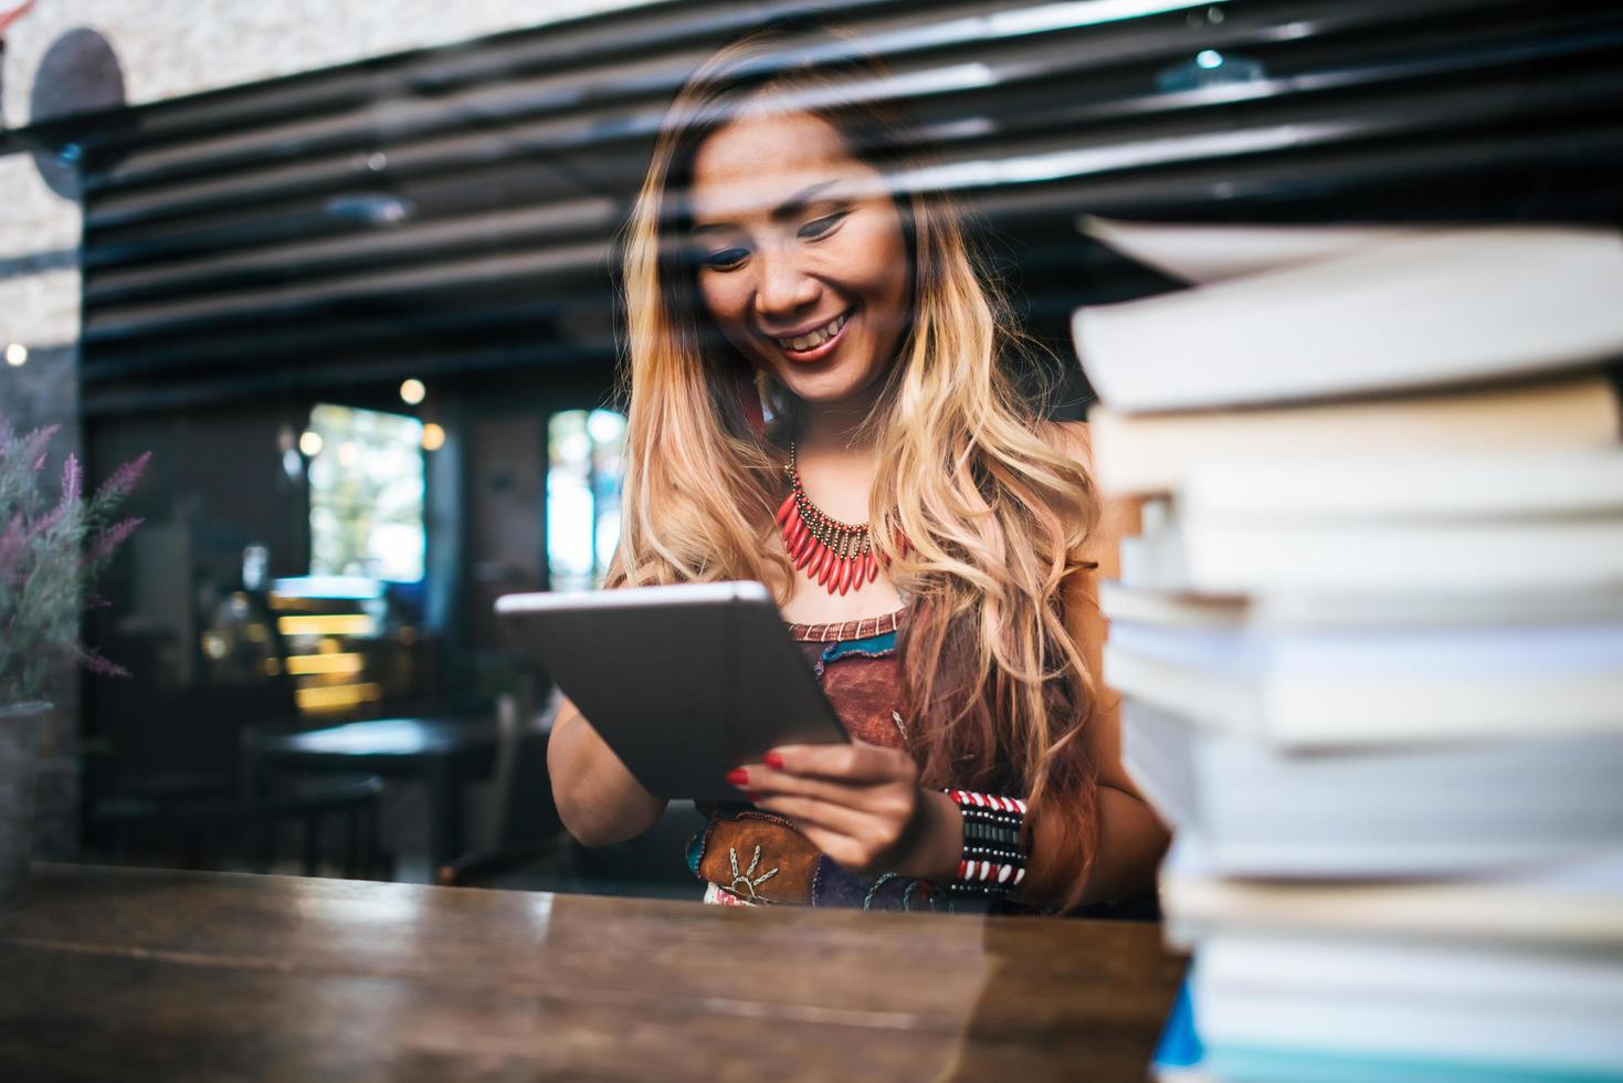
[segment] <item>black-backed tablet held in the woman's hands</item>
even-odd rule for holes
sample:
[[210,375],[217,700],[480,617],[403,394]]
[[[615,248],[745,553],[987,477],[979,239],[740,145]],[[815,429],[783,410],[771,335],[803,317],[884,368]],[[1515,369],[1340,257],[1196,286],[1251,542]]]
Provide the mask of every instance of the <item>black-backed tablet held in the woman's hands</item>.
[[657,797],[738,800],[727,771],[850,740],[761,583],[506,594],[497,615]]

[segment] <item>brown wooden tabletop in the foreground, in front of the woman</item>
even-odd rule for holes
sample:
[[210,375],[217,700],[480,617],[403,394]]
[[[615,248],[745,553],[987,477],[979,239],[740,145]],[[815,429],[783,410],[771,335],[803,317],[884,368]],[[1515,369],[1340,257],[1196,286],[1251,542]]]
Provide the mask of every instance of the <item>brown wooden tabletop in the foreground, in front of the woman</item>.
[[0,1080],[1143,1080],[1152,926],[36,862]]

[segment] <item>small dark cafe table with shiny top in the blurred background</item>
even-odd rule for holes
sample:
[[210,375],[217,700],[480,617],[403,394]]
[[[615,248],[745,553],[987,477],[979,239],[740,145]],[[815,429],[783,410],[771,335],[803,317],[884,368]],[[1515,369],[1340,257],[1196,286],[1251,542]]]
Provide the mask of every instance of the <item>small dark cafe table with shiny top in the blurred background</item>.
[[463,856],[463,783],[487,778],[497,760],[492,718],[377,718],[292,734],[260,734],[247,749],[255,789],[271,770],[346,771],[420,778],[428,784],[428,859],[433,867]]

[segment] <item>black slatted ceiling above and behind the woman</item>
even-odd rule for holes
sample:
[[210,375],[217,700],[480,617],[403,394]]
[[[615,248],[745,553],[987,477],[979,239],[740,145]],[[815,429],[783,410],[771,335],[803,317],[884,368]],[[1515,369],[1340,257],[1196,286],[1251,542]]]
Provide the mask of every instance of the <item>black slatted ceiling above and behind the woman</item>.
[[[803,6],[661,3],[26,133],[83,174],[86,412],[607,370],[610,239],[664,104]],[[1623,218],[1623,5],[818,6],[888,57],[1050,338],[1162,287],[1079,237],[1084,211]]]

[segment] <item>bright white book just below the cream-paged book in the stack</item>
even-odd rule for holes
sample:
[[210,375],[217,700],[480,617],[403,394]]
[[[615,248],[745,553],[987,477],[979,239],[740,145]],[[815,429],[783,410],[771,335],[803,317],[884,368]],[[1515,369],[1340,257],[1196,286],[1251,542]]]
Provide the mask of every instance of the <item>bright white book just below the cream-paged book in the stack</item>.
[[1201,593],[1623,585],[1623,448],[1214,460],[1175,505]]

